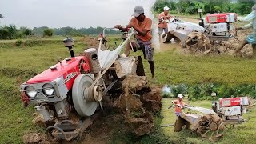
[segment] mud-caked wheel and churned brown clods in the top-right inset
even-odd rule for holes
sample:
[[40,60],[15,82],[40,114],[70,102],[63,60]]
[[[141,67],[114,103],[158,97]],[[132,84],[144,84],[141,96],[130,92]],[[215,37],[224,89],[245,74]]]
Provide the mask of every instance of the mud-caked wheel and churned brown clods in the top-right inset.
[[[188,40],[183,44],[186,48],[185,53],[191,54],[234,54],[241,43],[245,40],[246,35],[250,34],[250,30],[241,30],[238,35],[234,38],[222,41],[212,41],[210,42],[206,35],[198,32],[193,32],[189,34]],[[207,40],[208,39],[208,40]],[[209,44],[210,43],[210,44]],[[246,45],[236,54],[243,58],[252,58],[253,48],[251,45]]]

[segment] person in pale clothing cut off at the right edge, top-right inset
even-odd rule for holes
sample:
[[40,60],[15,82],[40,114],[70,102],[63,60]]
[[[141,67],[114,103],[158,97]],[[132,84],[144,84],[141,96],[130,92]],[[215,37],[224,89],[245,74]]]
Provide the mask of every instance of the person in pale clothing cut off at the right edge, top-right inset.
[[250,20],[252,20],[252,22],[250,22],[249,24],[245,26],[239,26],[238,28],[236,28],[236,30],[242,30],[242,29],[249,29],[252,27],[253,33],[248,35],[247,38],[242,42],[242,44],[238,46],[236,50],[234,50],[234,54],[237,54],[238,51],[241,50],[243,46],[245,46],[248,43],[251,43],[253,47],[256,46],[256,4],[252,7],[252,12],[248,14],[246,17],[244,18],[238,17],[238,21],[245,22]]

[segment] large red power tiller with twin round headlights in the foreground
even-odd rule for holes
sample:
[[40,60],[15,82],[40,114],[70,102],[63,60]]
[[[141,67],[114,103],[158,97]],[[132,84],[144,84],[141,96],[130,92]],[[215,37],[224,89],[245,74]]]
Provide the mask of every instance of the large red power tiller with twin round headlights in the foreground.
[[[95,119],[98,106],[103,109],[102,96],[114,83],[122,81],[127,74],[138,75],[140,57],[118,57],[132,35],[113,51],[102,51],[100,41],[98,50],[87,49],[77,57],[73,38],[66,38],[63,42],[70,51],[70,58],[60,60],[21,85],[22,102],[36,105],[51,141],[70,141],[82,134]],[[139,65],[142,66],[142,62]],[[141,72],[144,74],[144,70]]]

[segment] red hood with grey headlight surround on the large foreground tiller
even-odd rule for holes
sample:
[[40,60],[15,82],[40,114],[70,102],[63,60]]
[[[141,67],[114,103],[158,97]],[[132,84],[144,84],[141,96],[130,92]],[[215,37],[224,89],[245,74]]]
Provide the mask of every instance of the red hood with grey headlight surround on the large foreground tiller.
[[[49,69],[36,75],[34,78],[22,83],[22,102],[30,103],[47,103],[60,102],[67,97],[67,92],[73,86],[74,79],[83,72],[90,70],[88,60],[84,56],[75,58],[66,58],[62,62],[58,62]],[[47,95],[46,90],[49,87],[44,86],[50,84],[54,89],[54,93]],[[29,87],[31,90],[26,90]],[[50,87],[51,88],[51,87]],[[34,91],[34,97],[29,97],[26,91]]]

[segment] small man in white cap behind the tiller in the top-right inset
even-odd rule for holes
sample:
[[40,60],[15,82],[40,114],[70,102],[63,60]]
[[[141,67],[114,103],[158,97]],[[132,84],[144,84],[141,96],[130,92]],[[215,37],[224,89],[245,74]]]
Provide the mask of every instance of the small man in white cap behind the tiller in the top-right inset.
[[170,21],[170,18],[172,18],[172,16],[170,16],[169,11],[170,8],[168,6],[165,6],[163,8],[163,12],[160,13],[158,15],[158,34],[159,34],[159,38],[161,37],[162,32],[164,31],[165,33],[162,35],[162,38],[164,38],[166,36],[166,34],[168,33],[168,25],[167,23]]

